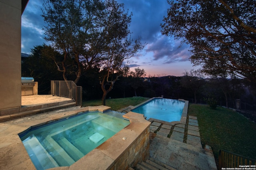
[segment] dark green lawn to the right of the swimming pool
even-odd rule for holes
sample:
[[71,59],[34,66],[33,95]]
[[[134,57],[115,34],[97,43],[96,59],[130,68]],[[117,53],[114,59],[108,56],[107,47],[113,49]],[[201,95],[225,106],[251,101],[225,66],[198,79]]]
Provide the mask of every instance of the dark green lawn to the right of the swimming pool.
[[199,104],[189,104],[188,115],[197,117],[202,145],[212,147],[215,159],[220,149],[256,159],[256,123],[231,109]]

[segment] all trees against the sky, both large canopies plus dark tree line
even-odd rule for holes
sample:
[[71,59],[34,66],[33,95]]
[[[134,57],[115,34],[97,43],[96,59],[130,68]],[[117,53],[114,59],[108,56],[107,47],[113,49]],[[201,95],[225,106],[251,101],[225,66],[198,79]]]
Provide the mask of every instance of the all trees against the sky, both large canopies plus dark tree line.
[[[190,44],[190,60],[210,75],[191,70],[184,76],[142,78],[124,64],[144,45],[130,39],[132,13],[114,0],[47,0],[42,9],[45,39],[22,63],[22,76],[38,81],[48,94],[50,80],[73,80],[84,99],[132,96],[193,99],[230,107],[235,99],[255,101],[255,0],[168,0],[162,33]],[[58,72],[58,71],[59,72]],[[230,80],[226,79],[230,76]],[[118,80],[118,81],[117,81]],[[246,81],[247,80],[247,81]],[[115,86],[114,86],[115,84]],[[99,90],[101,89],[101,90]]]

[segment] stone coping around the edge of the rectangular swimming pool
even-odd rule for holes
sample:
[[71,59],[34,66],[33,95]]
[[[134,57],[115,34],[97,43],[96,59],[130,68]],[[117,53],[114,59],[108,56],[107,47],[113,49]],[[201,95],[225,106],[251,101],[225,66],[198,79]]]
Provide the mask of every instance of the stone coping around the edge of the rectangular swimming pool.
[[[144,104],[146,104],[146,103],[148,103],[148,102],[150,102],[151,100],[154,100],[154,99],[162,99],[162,97],[150,98],[149,100],[146,100],[145,102],[142,102],[142,103],[140,103],[136,106],[131,107],[131,110],[135,109],[136,107],[142,106],[142,105],[144,105]],[[188,100],[183,100],[183,99],[178,99],[178,100],[185,103],[180,121],[168,122],[168,121],[162,121],[162,120],[158,120],[158,119],[154,119],[154,118],[149,118],[148,121],[150,121],[150,122],[157,121],[157,122],[167,124],[167,125],[186,124],[187,114],[188,114]]]

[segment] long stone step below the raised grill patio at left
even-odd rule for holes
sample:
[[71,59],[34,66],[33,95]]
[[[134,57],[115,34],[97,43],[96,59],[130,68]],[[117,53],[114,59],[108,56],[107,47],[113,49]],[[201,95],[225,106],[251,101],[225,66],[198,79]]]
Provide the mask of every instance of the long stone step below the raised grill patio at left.
[[47,111],[63,109],[63,108],[66,108],[66,107],[73,107],[73,106],[76,106],[76,102],[56,104],[54,106],[49,106],[49,107],[44,106],[44,105],[31,106],[31,107],[27,107],[27,108],[24,107],[23,110],[26,109],[26,111],[1,115],[0,116],[0,122],[12,120],[12,119],[17,119],[17,118],[20,118],[20,117],[25,117],[25,116],[28,116],[28,115],[35,115],[35,114],[38,114],[38,113],[44,113],[44,112],[47,112]]

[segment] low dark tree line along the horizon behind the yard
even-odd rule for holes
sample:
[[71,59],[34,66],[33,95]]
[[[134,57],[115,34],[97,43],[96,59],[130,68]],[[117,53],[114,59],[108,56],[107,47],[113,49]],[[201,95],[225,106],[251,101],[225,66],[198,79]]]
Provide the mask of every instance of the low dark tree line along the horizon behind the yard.
[[[22,76],[32,76],[38,81],[38,94],[49,94],[50,80],[63,80],[61,72],[57,71],[56,64],[51,55],[62,57],[47,45],[39,45],[32,49],[31,57],[22,62]],[[74,61],[68,61],[70,65]],[[124,67],[123,74],[116,81],[112,91],[106,98],[126,98],[133,96],[160,97],[172,99],[185,99],[193,103],[206,104],[216,102],[218,105],[235,107],[236,99],[255,103],[256,89],[245,79],[230,76],[227,78],[202,78],[198,70],[185,71],[183,76],[162,76],[143,78],[144,69],[135,68],[130,71]],[[102,70],[93,67],[81,74],[78,86],[83,87],[83,99],[100,99],[103,95],[99,83]],[[75,78],[72,72],[67,74],[69,78]],[[106,84],[109,88],[111,84]]]

